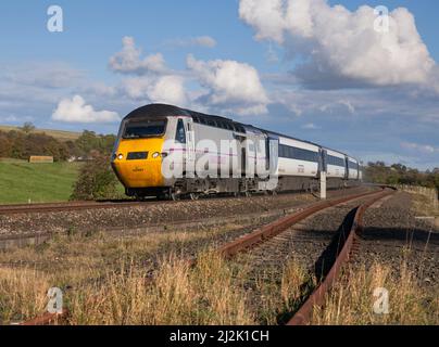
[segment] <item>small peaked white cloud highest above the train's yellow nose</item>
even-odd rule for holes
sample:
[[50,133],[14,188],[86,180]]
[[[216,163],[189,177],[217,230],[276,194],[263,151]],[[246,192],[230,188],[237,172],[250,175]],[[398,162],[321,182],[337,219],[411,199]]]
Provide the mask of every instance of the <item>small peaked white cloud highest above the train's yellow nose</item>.
[[122,51],[110,57],[109,66],[113,72],[133,75],[166,72],[165,61],[161,53],[141,59],[141,49],[136,47],[134,38],[129,36],[122,39]]

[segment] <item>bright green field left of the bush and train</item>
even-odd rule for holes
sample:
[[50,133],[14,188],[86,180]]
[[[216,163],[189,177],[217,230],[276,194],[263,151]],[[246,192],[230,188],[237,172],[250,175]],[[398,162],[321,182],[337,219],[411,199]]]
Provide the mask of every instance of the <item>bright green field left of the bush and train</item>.
[[68,201],[81,163],[0,160],[0,204]]

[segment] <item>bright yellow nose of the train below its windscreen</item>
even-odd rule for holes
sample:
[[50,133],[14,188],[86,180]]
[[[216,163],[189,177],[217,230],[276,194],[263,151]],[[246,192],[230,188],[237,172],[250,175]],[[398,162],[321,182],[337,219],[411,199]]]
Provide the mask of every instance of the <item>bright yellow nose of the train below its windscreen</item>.
[[113,169],[126,188],[163,187],[163,138],[121,140]]

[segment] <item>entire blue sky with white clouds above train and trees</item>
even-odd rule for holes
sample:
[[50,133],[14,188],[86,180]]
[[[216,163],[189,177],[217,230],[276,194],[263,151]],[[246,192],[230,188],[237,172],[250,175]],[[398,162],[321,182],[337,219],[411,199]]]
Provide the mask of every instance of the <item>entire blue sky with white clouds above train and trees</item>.
[[[52,4],[62,33],[46,27]],[[377,5],[387,34],[373,30]],[[438,12],[434,0],[1,1],[0,124],[115,132],[133,108],[168,102],[365,162],[439,167]]]

